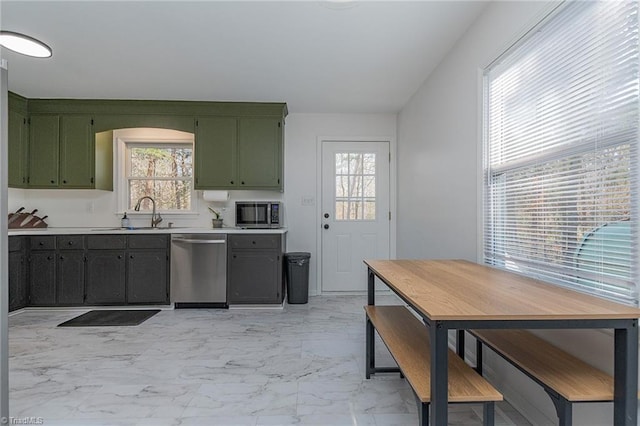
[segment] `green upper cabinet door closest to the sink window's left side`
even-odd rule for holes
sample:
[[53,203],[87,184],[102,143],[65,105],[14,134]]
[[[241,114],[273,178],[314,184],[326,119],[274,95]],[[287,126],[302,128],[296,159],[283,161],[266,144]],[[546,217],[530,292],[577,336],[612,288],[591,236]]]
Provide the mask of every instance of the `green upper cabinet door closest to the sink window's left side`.
[[60,188],[94,188],[95,133],[86,115],[63,115],[60,132]]

